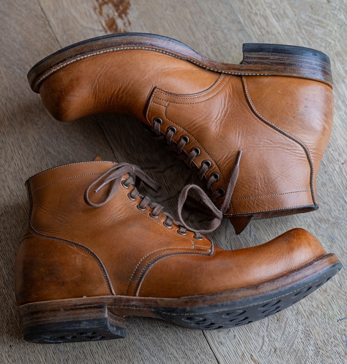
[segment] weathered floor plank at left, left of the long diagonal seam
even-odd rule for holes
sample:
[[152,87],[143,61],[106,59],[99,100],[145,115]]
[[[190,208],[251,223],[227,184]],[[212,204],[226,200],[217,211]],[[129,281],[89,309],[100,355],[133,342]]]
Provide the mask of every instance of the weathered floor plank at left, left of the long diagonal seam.
[[[17,13],[14,8],[25,9],[25,17],[24,12]],[[215,363],[202,332],[176,330],[164,321],[150,318],[130,318],[126,339],[100,345],[42,346],[22,339],[13,294],[13,265],[28,218],[25,179],[54,165],[90,160],[97,154],[110,160],[115,156],[94,117],[76,123],[56,122],[39,96],[30,90],[26,80],[29,68],[61,47],[58,36],[52,32],[54,24],[48,23],[40,6],[16,0],[5,4],[1,12],[1,26],[6,29],[0,36],[1,46],[8,51],[3,54],[0,68],[0,363],[161,363],[164,358],[168,358],[168,363],[192,363],[199,361],[201,355],[207,362]],[[13,31],[15,24],[19,33]],[[121,146],[125,144],[124,139]],[[116,159],[121,160],[118,157],[125,156],[117,155]]]

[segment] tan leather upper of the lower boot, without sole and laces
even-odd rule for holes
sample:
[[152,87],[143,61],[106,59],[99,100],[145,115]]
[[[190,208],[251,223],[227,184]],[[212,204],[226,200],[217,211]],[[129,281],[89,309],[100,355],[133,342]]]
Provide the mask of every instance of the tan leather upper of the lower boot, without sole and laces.
[[[319,242],[293,229],[263,245],[223,250],[206,237],[183,236],[137,208],[129,188],[97,208],[86,188],[113,162],[55,167],[27,181],[29,225],[16,258],[19,305],[82,296],[182,297],[253,286],[324,256]],[[123,180],[128,175],[123,176]],[[111,183],[109,183],[111,185]],[[104,199],[109,185],[90,199]]]

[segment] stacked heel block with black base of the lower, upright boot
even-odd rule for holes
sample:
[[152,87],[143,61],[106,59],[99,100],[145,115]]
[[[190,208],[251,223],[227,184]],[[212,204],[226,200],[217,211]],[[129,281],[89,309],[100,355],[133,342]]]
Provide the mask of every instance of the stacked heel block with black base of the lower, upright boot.
[[24,339],[32,343],[76,343],[126,336],[126,319],[114,315],[106,304],[64,307],[61,301],[39,302],[19,306],[19,314]]

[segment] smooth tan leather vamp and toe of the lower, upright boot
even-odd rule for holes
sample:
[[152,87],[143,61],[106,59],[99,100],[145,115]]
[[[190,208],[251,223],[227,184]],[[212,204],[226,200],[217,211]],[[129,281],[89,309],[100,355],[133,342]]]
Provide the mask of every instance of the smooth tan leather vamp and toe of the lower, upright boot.
[[[224,250],[216,246],[212,259],[187,255],[167,257],[153,265],[136,294],[180,297],[193,296],[196,292],[211,293],[211,288],[213,292],[223,292],[230,287],[257,285],[293,272],[310,259],[323,256],[324,249],[317,243],[306,230],[292,229],[252,248]],[[170,266],[179,266],[179,269],[168,274]],[[160,284],[163,280],[165,285]]]

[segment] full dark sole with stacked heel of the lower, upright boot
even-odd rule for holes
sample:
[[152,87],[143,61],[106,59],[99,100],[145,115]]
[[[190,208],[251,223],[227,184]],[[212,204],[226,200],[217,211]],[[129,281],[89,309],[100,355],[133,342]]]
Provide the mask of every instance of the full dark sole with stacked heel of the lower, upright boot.
[[326,256],[276,280],[229,292],[181,298],[99,296],[19,306],[24,339],[57,344],[119,339],[124,316],[162,318],[189,329],[228,329],[271,316],[326,283],[342,264]]

